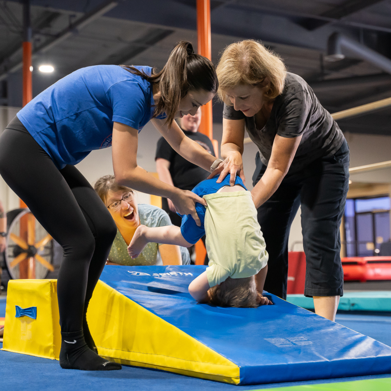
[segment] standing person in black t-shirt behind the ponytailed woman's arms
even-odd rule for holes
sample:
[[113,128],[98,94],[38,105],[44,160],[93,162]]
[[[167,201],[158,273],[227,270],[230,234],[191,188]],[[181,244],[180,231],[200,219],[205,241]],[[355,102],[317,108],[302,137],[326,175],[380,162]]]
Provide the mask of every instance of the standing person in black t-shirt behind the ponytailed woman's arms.
[[[210,138],[198,132],[200,124],[201,108],[197,110],[195,115],[188,114],[181,118],[179,126],[186,136],[199,143],[201,147],[215,156]],[[208,171],[190,163],[190,161],[175,152],[164,137],[159,139],[156,146],[155,160],[156,172],[159,175],[159,179],[168,185],[178,187],[182,190],[192,190],[195,185],[206,179],[210,174]],[[162,198],[161,207],[169,214],[172,224],[180,227],[182,219],[176,213],[172,201],[169,198]],[[202,240],[205,244],[205,236],[202,237]],[[192,252],[191,249],[190,251]],[[208,255],[205,257],[204,264],[208,264]]]

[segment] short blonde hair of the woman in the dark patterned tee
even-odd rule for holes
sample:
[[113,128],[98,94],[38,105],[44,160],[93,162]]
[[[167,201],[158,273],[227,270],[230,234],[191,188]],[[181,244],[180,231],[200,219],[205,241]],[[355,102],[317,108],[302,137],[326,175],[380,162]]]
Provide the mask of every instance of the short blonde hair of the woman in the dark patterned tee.
[[287,70],[281,58],[261,43],[252,39],[227,46],[216,68],[219,79],[217,94],[222,102],[232,105],[226,90],[239,84],[262,84],[269,79],[270,88],[265,92],[267,99],[274,99],[284,88]]

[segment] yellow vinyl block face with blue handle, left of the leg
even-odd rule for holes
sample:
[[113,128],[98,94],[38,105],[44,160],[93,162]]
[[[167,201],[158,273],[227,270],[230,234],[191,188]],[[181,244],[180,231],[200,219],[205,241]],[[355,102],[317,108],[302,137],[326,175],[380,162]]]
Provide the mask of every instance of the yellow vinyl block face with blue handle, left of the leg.
[[[16,306],[36,307],[36,319],[16,317]],[[10,280],[3,350],[58,360],[60,348],[57,280]]]

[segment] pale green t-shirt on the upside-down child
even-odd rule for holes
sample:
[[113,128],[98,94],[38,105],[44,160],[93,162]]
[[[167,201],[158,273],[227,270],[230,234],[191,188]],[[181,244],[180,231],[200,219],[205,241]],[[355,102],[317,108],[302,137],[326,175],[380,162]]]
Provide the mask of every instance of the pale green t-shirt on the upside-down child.
[[249,191],[204,195],[209,286],[257,274],[269,258]]

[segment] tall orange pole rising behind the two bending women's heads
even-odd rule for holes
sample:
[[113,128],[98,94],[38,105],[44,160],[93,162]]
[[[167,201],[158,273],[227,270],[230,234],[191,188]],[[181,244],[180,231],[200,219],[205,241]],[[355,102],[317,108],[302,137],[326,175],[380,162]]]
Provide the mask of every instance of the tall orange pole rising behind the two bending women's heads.
[[[210,38],[210,0],[197,0],[198,54],[212,60]],[[213,139],[212,102],[201,107],[202,120],[199,131]],[[217,155],[218,156],[218,155]]]

